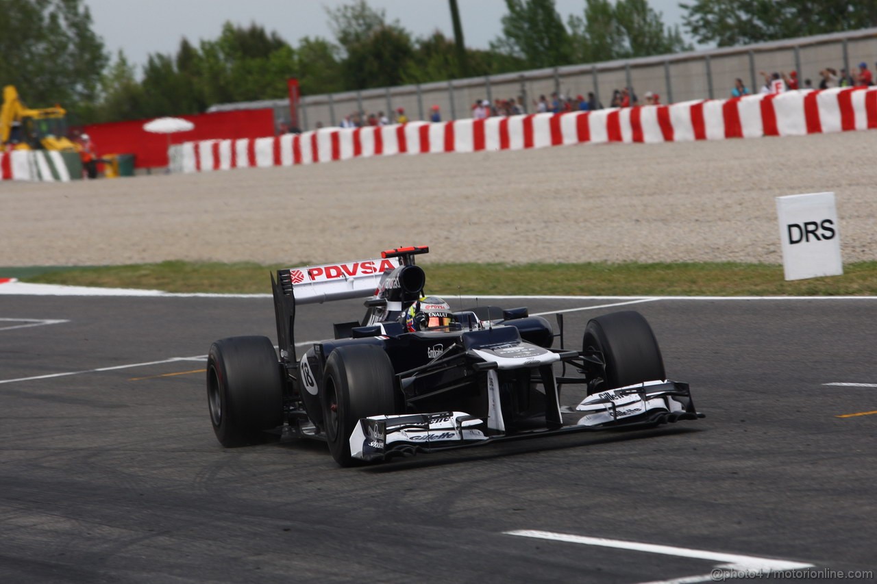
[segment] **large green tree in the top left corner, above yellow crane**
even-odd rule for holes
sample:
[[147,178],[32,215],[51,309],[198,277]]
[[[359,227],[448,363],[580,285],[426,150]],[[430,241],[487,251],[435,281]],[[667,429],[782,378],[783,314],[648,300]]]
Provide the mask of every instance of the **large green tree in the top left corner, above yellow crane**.
[[0,15],[0,84],[30,107],[96,99],[109,56],[81,0],[0,0]]

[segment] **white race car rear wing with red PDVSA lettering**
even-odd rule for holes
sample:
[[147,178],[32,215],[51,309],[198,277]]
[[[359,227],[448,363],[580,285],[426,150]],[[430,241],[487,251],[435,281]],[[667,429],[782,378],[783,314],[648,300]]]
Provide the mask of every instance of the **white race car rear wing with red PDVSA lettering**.
[[271,276],[271,288],[274,292],[277,345],[281,359],[296,361],[293,335],[296,304],[322,304],[332,300],[374,296],[383,274],[400,265],[402,261],[391,256],[277,270],[277,279],[273,274]]

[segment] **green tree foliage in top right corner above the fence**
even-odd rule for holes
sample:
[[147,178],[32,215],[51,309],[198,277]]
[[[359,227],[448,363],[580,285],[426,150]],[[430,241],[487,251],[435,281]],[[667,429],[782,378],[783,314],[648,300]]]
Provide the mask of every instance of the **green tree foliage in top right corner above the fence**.
[[682,21],[702,44],[737,46],[877,26],[874,0],[696,0]]

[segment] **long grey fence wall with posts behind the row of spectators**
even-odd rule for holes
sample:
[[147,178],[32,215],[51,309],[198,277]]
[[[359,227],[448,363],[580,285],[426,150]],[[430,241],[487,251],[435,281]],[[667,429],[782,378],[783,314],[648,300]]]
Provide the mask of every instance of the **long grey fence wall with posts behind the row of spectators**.
[[[735,46],[675,53],[623,61],[535,69],[503,75],[363,89],[316,96],[303,96],[298,121],[302,130],[340,125],[346,116],[384,114],[390,121],[403,108],[414,120],[428,120],[434,107],[441,119],[471,118],[476,101],[514,99],[524,113],[535,112],[540,96],[587,96],[593,92],[600,103],[610,105],[615,89],[631,88],[640,98],[646,91],[660,95],[661,103],[717,99],[731,95],[736,79],[752,93],[762,85],[761,72],[797,72],[804,88],[814,88],[820,71],[834,68],[852,71],[864,62],[877,69],[877,28],[784,39],[747,46]],[[873,70],[872,69],[872,70]],[[275,125],[290,123],[288,99],[224,103],[208,111],[273,108]]]

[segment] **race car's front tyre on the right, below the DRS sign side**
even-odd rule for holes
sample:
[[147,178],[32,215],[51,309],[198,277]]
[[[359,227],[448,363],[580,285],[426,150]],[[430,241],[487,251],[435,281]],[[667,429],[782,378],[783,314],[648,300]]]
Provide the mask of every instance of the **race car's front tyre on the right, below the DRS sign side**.
[[638,312],[624,310],[592,318],[585,327],[582,350],[599,351],[606,364],[601,383],[588,394],[656,379],[666,379],[664,360],[652,327]]

